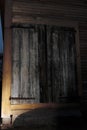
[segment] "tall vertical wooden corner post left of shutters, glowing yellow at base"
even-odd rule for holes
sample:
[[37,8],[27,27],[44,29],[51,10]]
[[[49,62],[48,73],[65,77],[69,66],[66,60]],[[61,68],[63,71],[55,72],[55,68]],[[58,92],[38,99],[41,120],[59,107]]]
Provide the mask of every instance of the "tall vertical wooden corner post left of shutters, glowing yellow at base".
[[4,23],[4,56],[2,81],[2,118],[10,117],[10,85],[11,85],[11,4],[12,0],[5,1]]

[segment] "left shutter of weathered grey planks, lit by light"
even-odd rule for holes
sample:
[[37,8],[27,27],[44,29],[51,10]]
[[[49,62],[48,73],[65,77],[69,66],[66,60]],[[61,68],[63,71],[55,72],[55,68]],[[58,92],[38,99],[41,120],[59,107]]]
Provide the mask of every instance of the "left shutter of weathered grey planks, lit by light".
[[13,28],[12,103],[39,102],[38,33],[35,28]]

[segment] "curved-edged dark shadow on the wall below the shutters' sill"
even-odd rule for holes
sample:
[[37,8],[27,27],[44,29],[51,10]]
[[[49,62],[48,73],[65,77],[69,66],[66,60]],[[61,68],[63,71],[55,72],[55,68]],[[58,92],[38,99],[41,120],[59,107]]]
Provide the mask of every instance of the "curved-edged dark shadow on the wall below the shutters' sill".
[[82,122],[82,114],[77,108],[39,108],[19,115],[13,127],[80,128]]

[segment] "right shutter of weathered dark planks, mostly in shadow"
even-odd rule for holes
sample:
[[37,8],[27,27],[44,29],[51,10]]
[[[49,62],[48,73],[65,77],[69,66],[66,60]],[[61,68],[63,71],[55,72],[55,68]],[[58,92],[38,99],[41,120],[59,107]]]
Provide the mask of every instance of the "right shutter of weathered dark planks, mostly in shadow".
[[49,102],[66,102],[77,96],[75,49],[74,29],[47,26]]

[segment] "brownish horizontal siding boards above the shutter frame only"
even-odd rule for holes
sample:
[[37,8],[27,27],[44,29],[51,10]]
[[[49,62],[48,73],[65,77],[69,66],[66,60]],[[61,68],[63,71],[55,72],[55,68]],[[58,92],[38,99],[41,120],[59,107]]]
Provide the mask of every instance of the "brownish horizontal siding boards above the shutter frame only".
[[[21,18],[38,19],[56,18],[75,21],[84,21],[87,19],[87,3],[80,0],[64,2],[55,1],[27,1],[14,0],[13,2],[13,20]],[[25,20],[24,19],[24,20]]]

